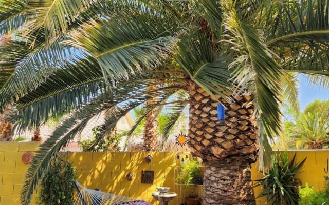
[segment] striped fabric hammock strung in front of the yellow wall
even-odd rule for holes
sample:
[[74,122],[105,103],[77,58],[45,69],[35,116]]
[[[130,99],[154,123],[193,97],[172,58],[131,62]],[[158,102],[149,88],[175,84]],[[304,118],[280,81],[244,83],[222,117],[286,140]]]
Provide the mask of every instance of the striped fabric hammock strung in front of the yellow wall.
[[152,205],[144,200],[136,200],[126,196],[100,192],[83,187],[78,181],[74,182],[78,192],[74,205]]

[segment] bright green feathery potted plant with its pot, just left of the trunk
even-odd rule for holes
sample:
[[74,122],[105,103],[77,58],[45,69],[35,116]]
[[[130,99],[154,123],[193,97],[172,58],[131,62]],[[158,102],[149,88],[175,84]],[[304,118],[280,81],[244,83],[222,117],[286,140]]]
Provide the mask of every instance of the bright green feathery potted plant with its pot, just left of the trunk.
[[[192,159],[181,163],[176,182],[184,185],[202,185],[203,173],[199,162]],[[197,205],[199,203],[200,199],[197,196],[188,196],[185,198],[185,205]]]

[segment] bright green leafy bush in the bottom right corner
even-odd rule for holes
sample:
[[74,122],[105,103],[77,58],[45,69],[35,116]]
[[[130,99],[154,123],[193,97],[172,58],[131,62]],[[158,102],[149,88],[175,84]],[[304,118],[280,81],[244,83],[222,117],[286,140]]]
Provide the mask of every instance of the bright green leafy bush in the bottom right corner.
[[305,187],[299,187],[299,205],[329,204],[329,185],[326,184],[323,191],[316,192],[306,183]]

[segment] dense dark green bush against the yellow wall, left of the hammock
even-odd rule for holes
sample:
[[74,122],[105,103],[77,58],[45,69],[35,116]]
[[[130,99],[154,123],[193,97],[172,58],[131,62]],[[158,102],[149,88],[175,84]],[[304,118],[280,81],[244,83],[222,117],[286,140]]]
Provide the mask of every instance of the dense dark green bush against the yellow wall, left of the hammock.
[[71,163],[62,159],[51,162],[41,181],[38,205],[73,204],[75,178]]

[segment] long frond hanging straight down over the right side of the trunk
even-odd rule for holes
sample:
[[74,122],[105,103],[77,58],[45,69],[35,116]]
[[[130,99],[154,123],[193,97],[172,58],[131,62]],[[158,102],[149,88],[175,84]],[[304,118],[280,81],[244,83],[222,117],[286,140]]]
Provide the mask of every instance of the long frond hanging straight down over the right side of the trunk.
[[[226,3],[228,3],[227,1]],[[238,53],[230,67],[234,69],[233,84],[239,92],[247,89],[253,94],[255,114],[258,118],[260,157],[262,162],[270,161],[267,136],[279,134],[280,125],[280,66],[271,57],[272,53],[264,44],[264,40],[250,25],[242,22],[232,4],[222,4],[225,8],[226,42]],[[266,150],[264,150],[266,149]],[[266,152],[266,153],[264,153]],[[265,154],[262,156],[262,154]],[[260,162],[260,166],[263,166]]]

